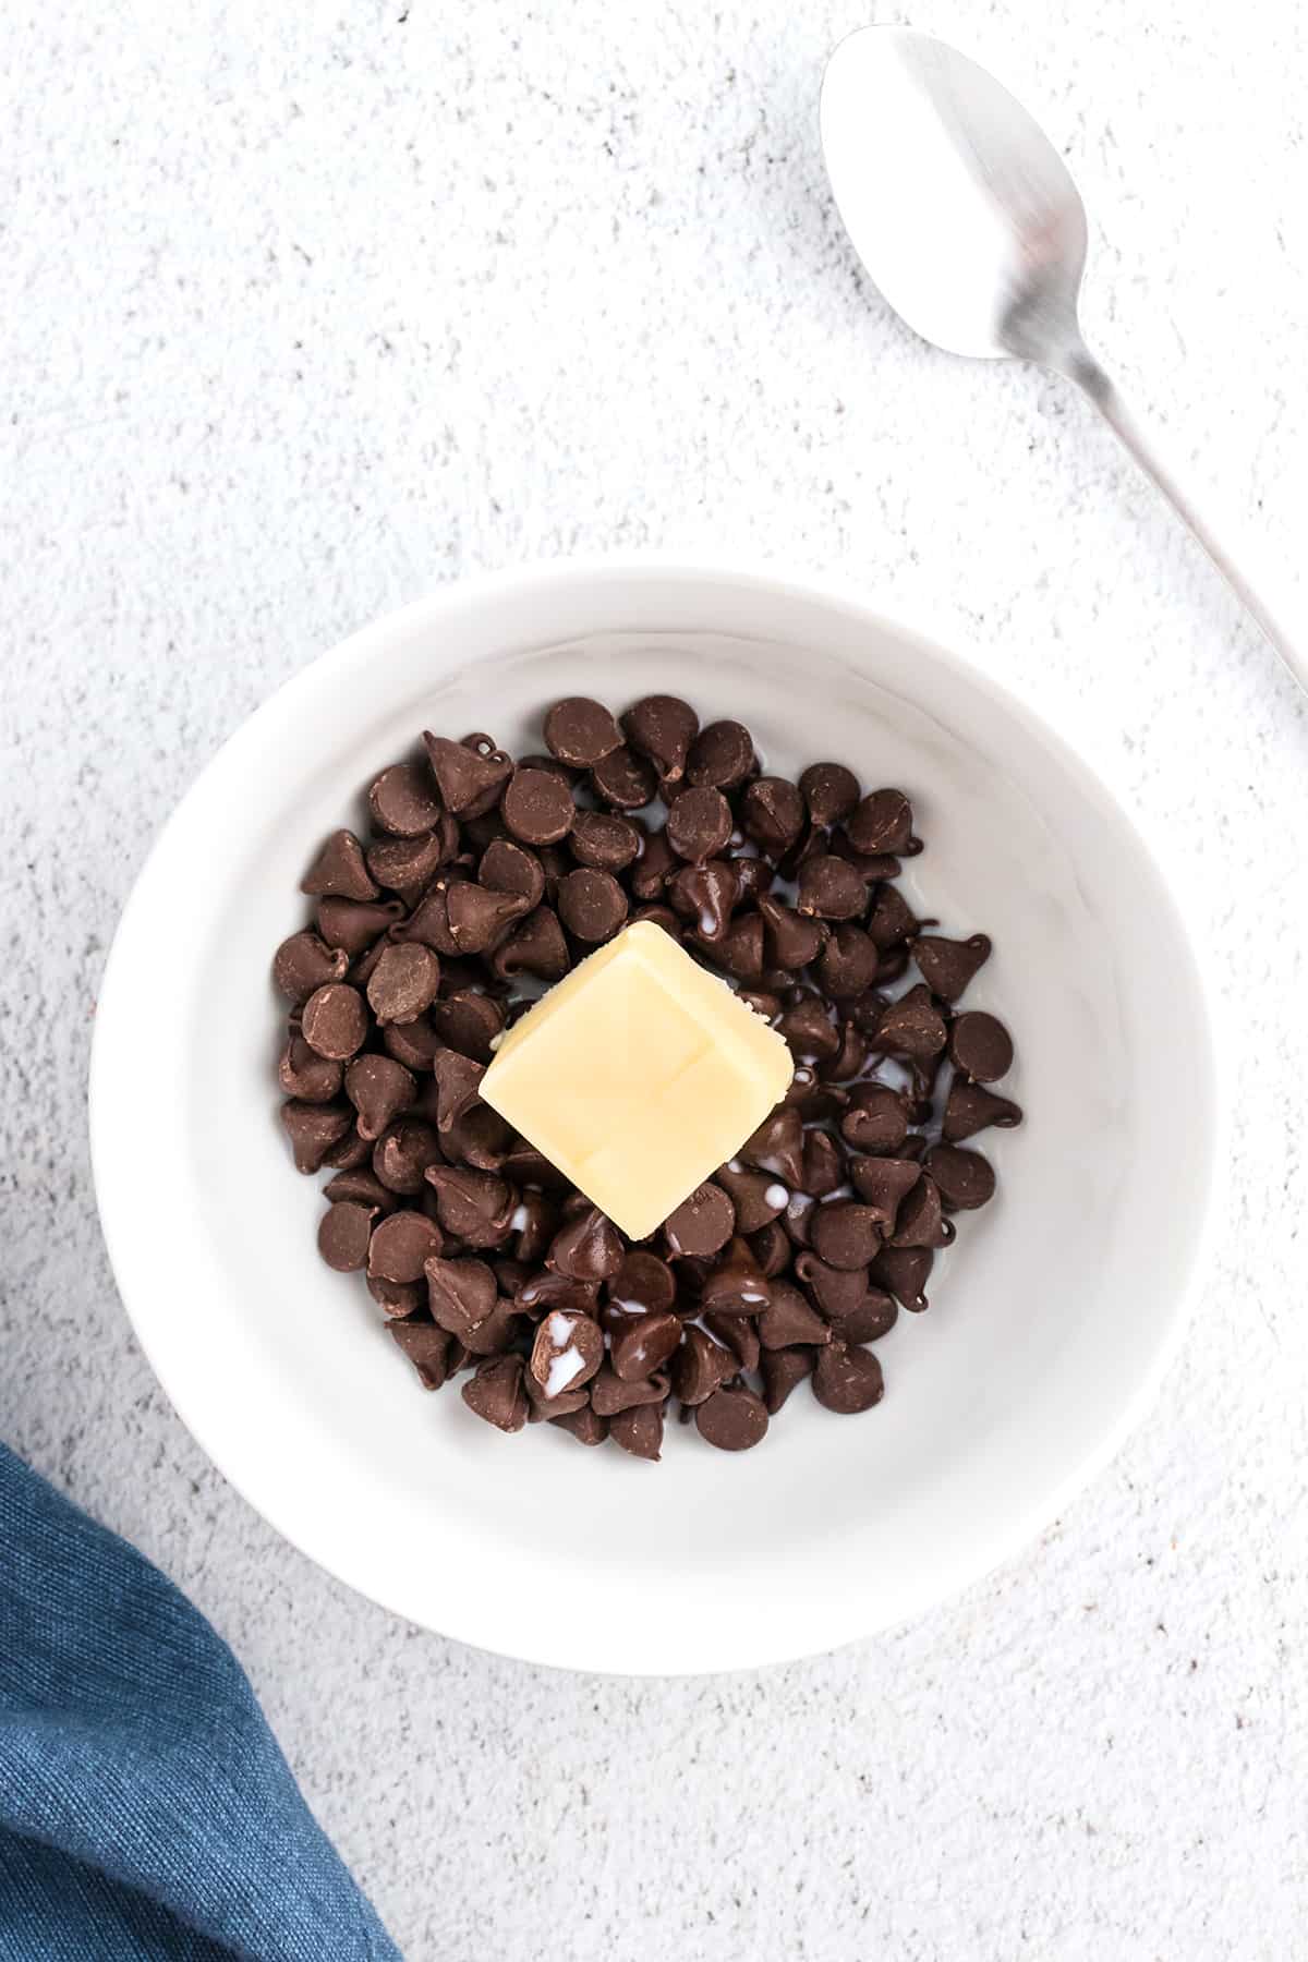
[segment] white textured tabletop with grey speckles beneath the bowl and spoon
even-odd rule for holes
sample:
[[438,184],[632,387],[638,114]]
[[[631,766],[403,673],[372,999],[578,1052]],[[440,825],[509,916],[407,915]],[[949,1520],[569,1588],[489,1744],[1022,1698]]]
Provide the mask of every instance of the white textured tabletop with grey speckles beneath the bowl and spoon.
[[[1308,714],[1088,410],[861,286],[814,98],[865,18],[0,16],[0,1432],[231,1638],[412,1958],[1308,1952]],[[1047,120],[1088,328],[1294,563],[1296,0],[914,18]],[[1194,1336],[1043,1544],[863,1650],[628,1687],[396,1625],[222,1485],[114,1297],[82,1077],[147,842],[282,675],[465,567],[637,543],[841,567],[1077,732],[1192,891],[1239,1114]]]

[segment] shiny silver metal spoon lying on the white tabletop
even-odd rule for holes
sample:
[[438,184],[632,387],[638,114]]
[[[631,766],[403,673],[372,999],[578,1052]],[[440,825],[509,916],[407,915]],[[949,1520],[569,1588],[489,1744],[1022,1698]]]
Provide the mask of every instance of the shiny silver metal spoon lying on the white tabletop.
[[822,147],[845,230],[890,306],[949,353],[1037,361],[1084,388],[1308,691],[1308,659],[1081,337],[1084,206],[1022,104],[943,41],[861,27],[828,63]]

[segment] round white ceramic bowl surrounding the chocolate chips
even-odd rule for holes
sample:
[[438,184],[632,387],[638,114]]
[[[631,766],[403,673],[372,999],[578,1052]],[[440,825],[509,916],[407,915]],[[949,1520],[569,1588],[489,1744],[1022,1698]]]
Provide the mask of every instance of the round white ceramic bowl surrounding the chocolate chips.
[[[663,1464],[504,1438],[424,1395],[277,1122],[275,946],[318,840],[422,728],[539,746],[559,695],[739,714],[771,767],[910,791],[918,910],[984,930],[969,1005],[1018,1040],[1028,1122],[884,1403],[796,1393],[763,1448],[671,1426]],[[182,1420],[296,1546],[443,1634],[667,1674],[775,1662],[914,1615],[1045,1524],[1177,1340],[1216,1150],[1198,967],[1128,816],[977,667],[830,583],[598,561],[471,579],[304,669],[214,757],[124,914],[92,1065],[110,1254]]]

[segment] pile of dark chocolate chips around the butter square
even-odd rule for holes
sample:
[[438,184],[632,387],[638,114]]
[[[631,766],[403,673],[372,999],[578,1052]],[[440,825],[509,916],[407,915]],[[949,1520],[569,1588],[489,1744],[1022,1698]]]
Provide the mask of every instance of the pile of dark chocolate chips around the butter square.
[[[369,789],[277,950],[278,1065],[318,1244],[361,1271],[428,1389],[500,1430],[547,1420],[657,1458],[665,1413],[745,1450],[808,1377],[882,1395],[869,1348],[926,1309],[955,1213],[994,1171],[965,1140],[1020,1122],[1008,1032],[959,1008],[984,934],[924,932],[894,885],[922,850],[902,791],[841,763],[765,773],[739,722],[675,697],[614,720],[555,702],[545,751],[424,736]],[[643,812],[643,816],[641,816]],[[782,1105],[633,1246],[478,1099],[496,1038],[629,920],[657,920],[780,1030]],[[916,977],[912,969],[916,969]]]

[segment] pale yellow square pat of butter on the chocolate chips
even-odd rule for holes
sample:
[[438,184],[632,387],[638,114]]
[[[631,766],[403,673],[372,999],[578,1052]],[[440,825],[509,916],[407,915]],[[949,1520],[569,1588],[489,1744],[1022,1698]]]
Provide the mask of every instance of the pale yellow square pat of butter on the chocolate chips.
[[759,1128],[792,1073],[763,1016],[637,920],[514,1024],[480,1095],[643,1240]]

